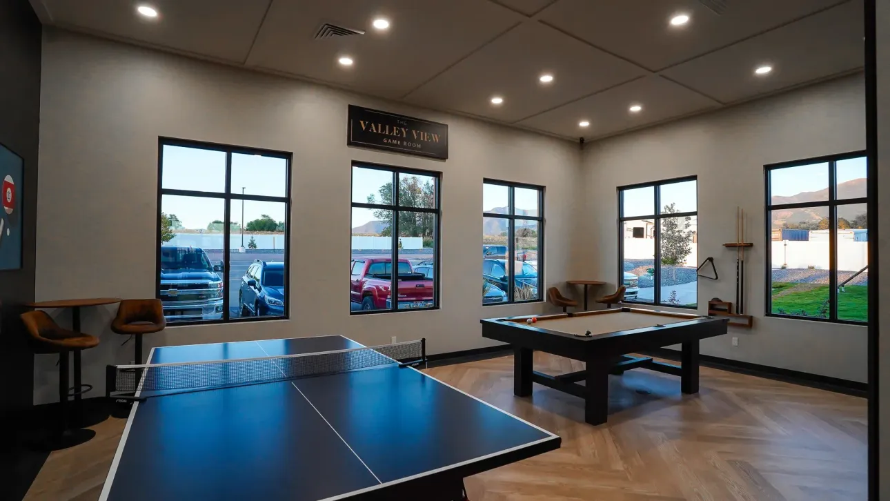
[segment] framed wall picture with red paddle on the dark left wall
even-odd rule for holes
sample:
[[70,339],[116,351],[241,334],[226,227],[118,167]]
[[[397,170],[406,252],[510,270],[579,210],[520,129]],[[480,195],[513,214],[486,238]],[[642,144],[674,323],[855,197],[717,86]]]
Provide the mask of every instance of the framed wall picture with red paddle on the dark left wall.
[[22,160],[0,145],[0,271],[21,268]]

